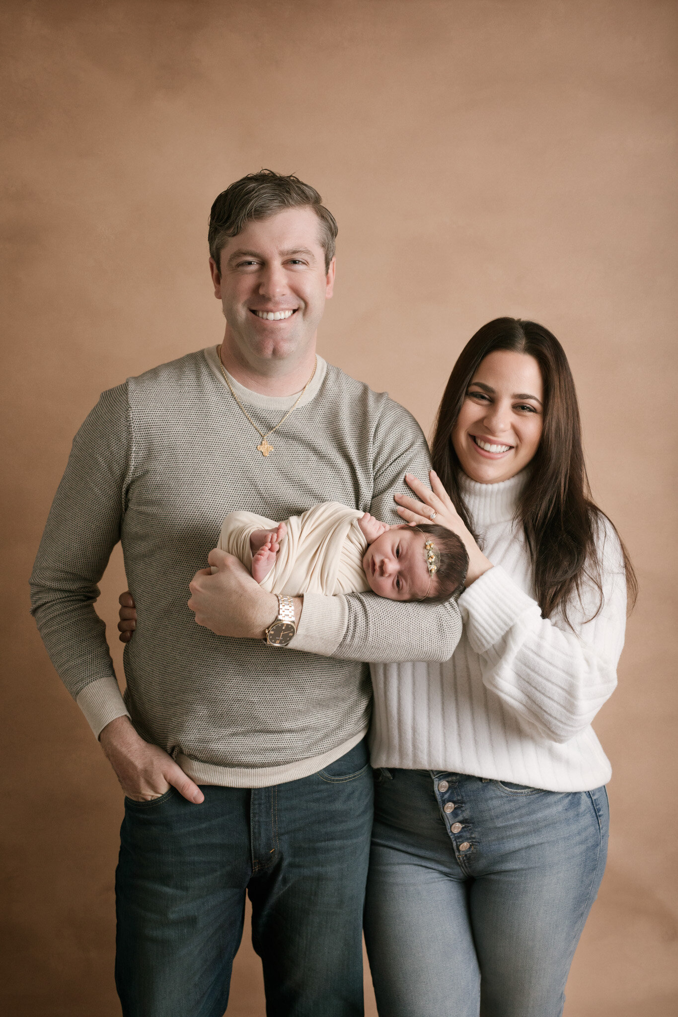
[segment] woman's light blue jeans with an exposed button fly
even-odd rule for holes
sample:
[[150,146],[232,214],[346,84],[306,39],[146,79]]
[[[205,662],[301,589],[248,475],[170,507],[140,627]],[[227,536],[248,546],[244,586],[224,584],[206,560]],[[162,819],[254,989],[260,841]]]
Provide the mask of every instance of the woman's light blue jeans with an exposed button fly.
[[365,937],[379,1014],[561,1014],[608,819],[604,787],[377,771]]

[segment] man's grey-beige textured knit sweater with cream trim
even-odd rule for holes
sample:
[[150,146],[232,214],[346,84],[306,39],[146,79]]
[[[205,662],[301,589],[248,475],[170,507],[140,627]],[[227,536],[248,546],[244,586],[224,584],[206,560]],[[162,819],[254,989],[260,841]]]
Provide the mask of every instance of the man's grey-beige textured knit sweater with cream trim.
[[[296,398],[232,383],[264,431]],[[237,787],[307,776],[344,755],[369,721],[362,661],[442,660],[459,632],[453,602],[372,593],[308,595],[287,650],[196,625],[188,584],[229,512],[286,519],[330,497],[396,522],[404,473],[425,477],[428,466],[407,411],[320,359],[266,459],[259,440],[214,349],[104,393],[73,441],[32,578],[45,645],[95,733],[128,711],[194,779]],[[118,540],[138,613],[124,703],[94,607]]]

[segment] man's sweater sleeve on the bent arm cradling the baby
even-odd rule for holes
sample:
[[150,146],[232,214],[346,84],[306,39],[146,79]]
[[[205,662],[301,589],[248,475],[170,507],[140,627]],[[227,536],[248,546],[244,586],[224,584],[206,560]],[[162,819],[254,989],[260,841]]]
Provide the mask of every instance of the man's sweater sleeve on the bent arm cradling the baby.
[[[428,482],[430,459],[422,430],[397,403],[387,400],[373,438],[374,487],[370,513],[400,523],[393,494],[407,491],[405,474]],[[299,630],[290,649],[368,663],[449,660],[461,636],[459,608],[443,603],[394,601],[376,594],[304,595]]]

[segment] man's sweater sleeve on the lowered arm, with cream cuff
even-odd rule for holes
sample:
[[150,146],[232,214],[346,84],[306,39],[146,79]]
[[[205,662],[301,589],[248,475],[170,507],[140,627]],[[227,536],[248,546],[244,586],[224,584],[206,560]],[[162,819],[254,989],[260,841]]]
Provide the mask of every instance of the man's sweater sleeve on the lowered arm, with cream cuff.
[[30,577],[32,614],[95,734],[127,714],[95,610],[120,540],[131,461],[127,386],[105,392],[73,440]]

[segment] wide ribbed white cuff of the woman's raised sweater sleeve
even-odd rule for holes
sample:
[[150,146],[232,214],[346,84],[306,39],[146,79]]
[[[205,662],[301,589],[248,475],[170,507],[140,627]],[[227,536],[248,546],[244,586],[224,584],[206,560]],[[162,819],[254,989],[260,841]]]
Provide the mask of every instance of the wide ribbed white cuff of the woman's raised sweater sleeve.
[[539,604],[515,585],[501,565],[488,570],[459,597],[459,610],[469,642],[476,653],[485,653],[527,612]]

